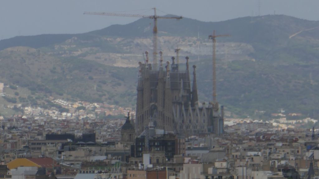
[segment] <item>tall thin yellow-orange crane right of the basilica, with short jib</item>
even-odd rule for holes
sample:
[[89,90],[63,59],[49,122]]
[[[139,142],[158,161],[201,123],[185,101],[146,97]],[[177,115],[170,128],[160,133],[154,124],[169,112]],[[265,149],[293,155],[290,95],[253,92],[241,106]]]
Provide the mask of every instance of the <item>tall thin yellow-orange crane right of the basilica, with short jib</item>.
[[230,35],[215,35],[215,30],[213,34],[208,36],[209,39],[213,40],[213,104],[216,108],[218,108],[218,104],[216,101],[216,37],[229,37]]

